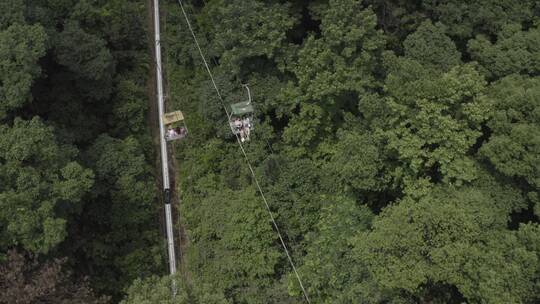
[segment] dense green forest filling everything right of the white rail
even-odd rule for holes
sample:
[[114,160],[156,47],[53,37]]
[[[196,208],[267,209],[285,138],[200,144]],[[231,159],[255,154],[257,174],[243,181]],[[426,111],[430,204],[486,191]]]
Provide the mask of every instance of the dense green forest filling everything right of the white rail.
[[[225,2],[190,14],[226,102],[253,85],[262,128],[245,148],[314,303],[538,301],[534,1]],[[198,135],[177,154],[188,268],[232,303],[296,303],[174,34],[175,101]]]

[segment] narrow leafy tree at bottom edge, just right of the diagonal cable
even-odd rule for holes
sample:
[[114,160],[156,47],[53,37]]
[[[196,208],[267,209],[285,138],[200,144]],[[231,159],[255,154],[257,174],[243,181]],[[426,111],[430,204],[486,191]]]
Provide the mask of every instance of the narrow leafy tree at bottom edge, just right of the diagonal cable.
[[[312,301],[317,303],[380,303],[390,298],[373,284],[366,265],[353,250],[355,237],[366,231],[373,213],[350,198],[334,197],[322,208],[316,229],[307,236],[308,248],[300,273]],[[299,293],[291,276],[290,286]],[[291,287],[290,287],[291,288]]]

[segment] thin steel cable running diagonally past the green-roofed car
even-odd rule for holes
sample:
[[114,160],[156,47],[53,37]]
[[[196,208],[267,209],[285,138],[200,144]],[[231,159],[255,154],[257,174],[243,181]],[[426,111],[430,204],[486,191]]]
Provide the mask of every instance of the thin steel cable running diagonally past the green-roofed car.
[[[210,76],[210,80],[212,81],[212,85],[214,86],[214,89],[217,93],[217,96],[219,98],[219,101],[221,102],[221,106],[225,110],[225,114],[227,115],[227,123],[229,121],[229,118],[231,117],[229,115],[229,110],[227,109],[227,106],[225,105],[225,101],[223,100],[223,97],[221,96],[221,93],[219,92],[219,89],[216,85],[216,82],[214,80],[214,75],[212,74],[212,71],[210,70],[210,67],[208,66],[208,62],[206,61],[206,58],[204,57],[204,54],[202,52],[201,46],[199,45],[199,41],[197,40],[197,37],[195,36],[195,32],[193,31],[193,28],[191,26],[191,22],[189,21],[189,18],[186,14],[186,11],[184,10],[184,5],[182,4],[182,0],[178,0],[178,4],[180,4],[180,8],[182,9],[182,14],[184,15],[184,18],[186,19],[186,23],[188,25],[189,31],[191,32],[191,36],[193,37],[193,41],[195,42],[195,45],[197,46],[197,50],[199,51],[199,54],[201,55],[201,59],[204,63],[204,66],[206,68],[206,71],[208,72],[208,75]],[[266,206],[266,210],[268,211],[268,214],[270,215],[270,220],[272,221],[272,224],[274,226],[274,229],[277,232],[277,235],[279,237],[279,240],[281,242],[281,246],[283,247],[283,250],[285,251],[285,254],[287,255],[287,259],[289,260],[289,264],[291,265],[294,274],[296,276],[296,279],[298,280],[298,283],[300,284],[300,288],[302,289],[302,293],[304,294],[304,298],[306,299],[306,302],[311,304],[311,301],[309,300],[309,296],[307,294],[306,289],[304,288],[304,284],[302,283],[302,279],[300,278],[300,274],[298,273],[298,270],[296,269],[296,266],[294,265],[294,262],[292,260],[291,255],[289,254],[289,250],[287,249],[287,245],[285,244],[285,241],[283,240],[283,236],[281,235],[281,231],[279,230],[279,226],[277,225],[277,222],[274,218],[274,215],[272,214],[272,210],[270,209],[270,205],[268,204],[268,201],[266,200],[266,196],[264,195],[264,192],[259,184],[259,180],[257,179],[257,176],[255,175],[255,171],[253,170],[253,166],[251,165],[251,162],[249,161],[249,158],[247,156],[246,150],[244,149],[244,145],[242,145],[242,141],[240,140],[240,137],[238,134],[235,134],[232,126],[230,123],[229,128],[231,129],[231,132],[236,136],[236,142],[240,146],[240,150],[242,151],[242,154],[244,155],[244,159],[246,161],[246,164],[249,168],[249,171],[251,172],[251,175],[253,176],[253,180],[255,181],[255,185],[257,186],[257,189],[259,190],[259,193],[261,194],[262,200],[264,202],[264,205]]]

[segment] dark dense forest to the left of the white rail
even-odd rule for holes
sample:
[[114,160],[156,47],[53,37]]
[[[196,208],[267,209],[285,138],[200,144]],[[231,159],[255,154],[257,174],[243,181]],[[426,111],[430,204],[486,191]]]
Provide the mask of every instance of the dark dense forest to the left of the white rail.
[[146,3],[0,11],[0,303],[118,299],[165,269]]

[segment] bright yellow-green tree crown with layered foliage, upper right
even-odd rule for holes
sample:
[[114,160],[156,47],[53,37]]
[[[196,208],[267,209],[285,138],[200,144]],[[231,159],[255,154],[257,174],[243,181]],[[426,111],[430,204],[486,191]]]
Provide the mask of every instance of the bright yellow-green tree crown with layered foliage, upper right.
[[476,176],[470,149],[488,117],[483,94],[486,82],[470,65],[439,74],[416,60],[387,57],[386,149],[401,163],[393,175],[414,183],[417,178],[463,183]]

